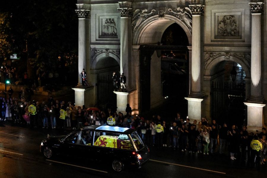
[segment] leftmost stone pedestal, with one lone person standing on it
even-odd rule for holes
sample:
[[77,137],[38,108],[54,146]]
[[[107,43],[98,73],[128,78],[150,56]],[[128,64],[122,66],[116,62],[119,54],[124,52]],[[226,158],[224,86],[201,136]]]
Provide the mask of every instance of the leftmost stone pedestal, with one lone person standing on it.
[[92,97],[93,86],[87,88],[71,88],[75,91],[75,106],[82,106],[85,107],[94,106],[95,103],[92,103],[93,100],[90,98]]

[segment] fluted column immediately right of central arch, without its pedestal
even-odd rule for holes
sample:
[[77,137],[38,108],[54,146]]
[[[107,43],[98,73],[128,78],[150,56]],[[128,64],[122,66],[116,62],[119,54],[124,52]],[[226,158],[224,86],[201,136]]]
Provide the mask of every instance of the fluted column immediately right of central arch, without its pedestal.
[[204,13],[204,5],[189,5],[192,11],[192,80],[191,96],[201,97],[201,15]]

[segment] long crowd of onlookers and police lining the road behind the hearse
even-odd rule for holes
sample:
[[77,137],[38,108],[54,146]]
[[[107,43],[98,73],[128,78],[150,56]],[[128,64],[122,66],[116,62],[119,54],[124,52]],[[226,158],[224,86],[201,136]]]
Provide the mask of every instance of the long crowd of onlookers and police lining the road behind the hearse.
[[213,119],[209,123],[206,118],[190,122],[183,119],[180,113],[173,121],[162,119],[160,115],[145,120],[138,115],[132,115],[129,104],[125,115],[122,112],[100,111],[97,108],[88,109],[83,105],[53,100],[48,96],[47,101],[26,101],[25,98],[0,97],[0,120],[19,124],[27,124],[30,128],[42,127],[50,129],[80,129],[89,125],[110,125],[136,129],[147,145],[157,148],[171,147],[181,152],[197,152],[197,154],[230,155],[231,160],[241,159],[254,162],[257,155],[260,164],[265,164],[267,142],[266,128],[259,133],[248,133],[247,127],[241,129],[235,125],[218,125]]

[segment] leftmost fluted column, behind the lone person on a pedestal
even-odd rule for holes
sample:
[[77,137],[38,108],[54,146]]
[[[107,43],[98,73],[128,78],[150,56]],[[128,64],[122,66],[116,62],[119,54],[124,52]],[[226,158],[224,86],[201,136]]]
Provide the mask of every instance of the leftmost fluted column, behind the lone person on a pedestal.
[[[79,18],[79,46],[78,46],[78,87],[82,87],[82,69],[86,71],[86,27],[88,26],[87,19],[90,18],[90,10],[75,10]],[[89,29],[88,29],[89,30]]]

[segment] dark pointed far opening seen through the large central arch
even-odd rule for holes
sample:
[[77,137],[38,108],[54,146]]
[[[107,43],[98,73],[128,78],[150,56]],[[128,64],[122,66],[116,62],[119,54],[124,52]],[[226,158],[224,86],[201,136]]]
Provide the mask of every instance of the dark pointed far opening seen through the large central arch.
[[[171,24],[163,33],[162,45],[188,46],[185,31],[177,23]],[[183,99],[188,95],[188,53],[173,49],[161,51],[161,78],[163,96]]]

